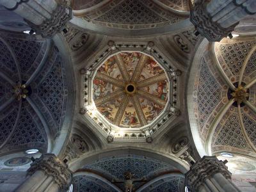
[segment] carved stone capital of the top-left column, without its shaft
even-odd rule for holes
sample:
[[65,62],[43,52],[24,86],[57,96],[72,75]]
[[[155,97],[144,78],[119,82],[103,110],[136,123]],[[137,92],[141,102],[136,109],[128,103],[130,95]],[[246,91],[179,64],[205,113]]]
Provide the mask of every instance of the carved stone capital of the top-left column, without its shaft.
[[70,19],[72,19],[72,8],[59,3],[56,9],[52,12],[51,19],[45,20],[39,26],[29,22],[29,20],[26,20],[26,22],[28,22],[31,29],[33,29],[36,33],[42,35],[43,37],[49,37],[62,31]]

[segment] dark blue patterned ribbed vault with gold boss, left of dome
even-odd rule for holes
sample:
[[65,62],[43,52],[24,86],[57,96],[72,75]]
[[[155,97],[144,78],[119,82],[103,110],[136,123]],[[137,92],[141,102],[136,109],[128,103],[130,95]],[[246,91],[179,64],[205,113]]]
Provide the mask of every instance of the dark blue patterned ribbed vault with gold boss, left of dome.
[[[65,70],[51,41],[1,33],[0,150],[47,151],[67,102]],[[47,120],[47,121],[46,121]]]

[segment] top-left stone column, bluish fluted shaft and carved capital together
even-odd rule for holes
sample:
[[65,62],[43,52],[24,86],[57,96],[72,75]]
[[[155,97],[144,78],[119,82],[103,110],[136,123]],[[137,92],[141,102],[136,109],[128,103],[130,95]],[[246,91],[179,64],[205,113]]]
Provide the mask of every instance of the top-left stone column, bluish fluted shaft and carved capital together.
[[72,9],[64,0],[0,0],[7,10],[24,18],[31,29],[43,37],[53,36],[72,19]]

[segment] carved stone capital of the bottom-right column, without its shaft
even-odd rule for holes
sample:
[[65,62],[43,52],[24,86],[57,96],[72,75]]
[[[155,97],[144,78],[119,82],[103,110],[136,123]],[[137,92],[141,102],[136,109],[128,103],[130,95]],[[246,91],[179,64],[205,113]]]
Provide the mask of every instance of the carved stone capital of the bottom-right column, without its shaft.
[[185,184],[192,191],[198,191],[205,179],[209,179],[216,173],[221,173],[226,179],[231,179],[231,173],[223,161],[219,161],[216,156],[204,156],[196,161],[185,174]]

